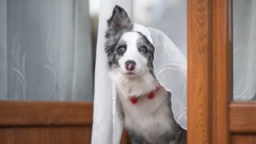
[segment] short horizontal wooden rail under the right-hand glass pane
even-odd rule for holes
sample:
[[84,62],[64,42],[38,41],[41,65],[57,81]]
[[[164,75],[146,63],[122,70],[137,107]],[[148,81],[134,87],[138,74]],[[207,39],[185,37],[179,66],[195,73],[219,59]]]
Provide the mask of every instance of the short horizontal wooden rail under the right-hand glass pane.
[[256,105],[254,102],[230,104],[230,131],[233,133],[256,133]]

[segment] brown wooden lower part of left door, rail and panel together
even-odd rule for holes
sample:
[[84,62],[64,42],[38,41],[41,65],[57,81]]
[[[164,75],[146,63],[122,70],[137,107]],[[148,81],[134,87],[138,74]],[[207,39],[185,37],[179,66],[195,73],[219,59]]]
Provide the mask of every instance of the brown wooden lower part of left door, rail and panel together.
[[[90,102],[0,102],[1,144],[89,144]],[[129,143],[127,134],[122,144]]]

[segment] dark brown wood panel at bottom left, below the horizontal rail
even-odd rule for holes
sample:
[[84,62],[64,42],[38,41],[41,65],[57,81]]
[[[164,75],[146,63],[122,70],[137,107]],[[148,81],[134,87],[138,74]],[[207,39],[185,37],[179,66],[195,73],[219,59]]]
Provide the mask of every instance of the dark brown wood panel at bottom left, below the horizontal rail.
[[90,126],[1,128],[2,144],[89,144]]

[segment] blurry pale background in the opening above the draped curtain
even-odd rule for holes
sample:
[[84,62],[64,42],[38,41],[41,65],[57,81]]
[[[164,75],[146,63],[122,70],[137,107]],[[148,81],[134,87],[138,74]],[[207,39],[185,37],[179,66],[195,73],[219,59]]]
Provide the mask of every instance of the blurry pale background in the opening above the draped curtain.
[[186,0],[134,0],[134,22],[162,30],[186,56]]

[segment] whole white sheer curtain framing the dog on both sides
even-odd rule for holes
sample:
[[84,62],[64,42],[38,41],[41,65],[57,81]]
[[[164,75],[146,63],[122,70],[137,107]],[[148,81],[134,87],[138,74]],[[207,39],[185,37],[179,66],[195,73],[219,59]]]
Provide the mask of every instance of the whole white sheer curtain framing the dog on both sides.
[[[103,35],[106,31],[106,19],[110,18],[114,4],[124,7],[127,14],[130,14],[131,5],[118,1],[118,3],[115,2],[110,6],[111,9],[106,7],[105,4],[107,3],[102,3],[99,18],[92,143],[118,144],[122,136],[123,116],[114,84],[108,78],[108,66],[104,52],[105,38]],[[154,75],[158,82],[172,94],[171,108],[174,119],[183,129],[186,129],[186,57],[170,38],[160,30],[146,28],[136,23],[134,23],[133,30],[144,34],[154,45]]]

